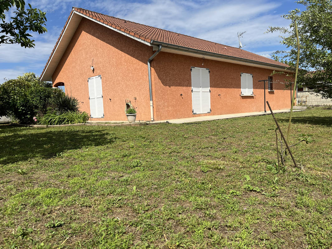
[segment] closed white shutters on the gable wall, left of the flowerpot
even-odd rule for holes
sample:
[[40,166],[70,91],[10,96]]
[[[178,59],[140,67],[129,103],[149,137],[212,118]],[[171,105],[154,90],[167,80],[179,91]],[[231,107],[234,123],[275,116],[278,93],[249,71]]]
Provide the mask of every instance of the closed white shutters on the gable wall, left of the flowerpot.
[[104,118],[102,76],[88,78],[91,118]]

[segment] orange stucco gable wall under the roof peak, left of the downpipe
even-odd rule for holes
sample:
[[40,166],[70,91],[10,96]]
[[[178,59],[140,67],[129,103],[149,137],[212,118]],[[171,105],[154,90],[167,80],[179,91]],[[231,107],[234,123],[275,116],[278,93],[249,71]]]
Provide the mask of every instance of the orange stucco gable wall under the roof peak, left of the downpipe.
[[137,107],[137,120],[150,120],[147,60],[152,54],[152,47],[83,18],[52,82],[63,82],[66,94],[90,114],[88,78],[101,75],[105,117],[92,120],[125,121],[126,98]]

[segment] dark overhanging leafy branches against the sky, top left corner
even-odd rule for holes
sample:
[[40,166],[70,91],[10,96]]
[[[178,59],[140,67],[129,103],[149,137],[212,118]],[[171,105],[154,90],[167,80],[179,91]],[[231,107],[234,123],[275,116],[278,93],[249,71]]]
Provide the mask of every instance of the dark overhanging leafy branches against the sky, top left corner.
[[[47,32],[43,26],[46,22],[46,13],[40,9],[33,9],[30,4],[25,9],[25,1],[23,0],[0,0],[0,44],[17,43],[22,47],[35,47],[34,40],[30,38],[28,32],[38,32],[39,34]],[[6,13],[13,11],[14,16],[10,21],[6,21]]]

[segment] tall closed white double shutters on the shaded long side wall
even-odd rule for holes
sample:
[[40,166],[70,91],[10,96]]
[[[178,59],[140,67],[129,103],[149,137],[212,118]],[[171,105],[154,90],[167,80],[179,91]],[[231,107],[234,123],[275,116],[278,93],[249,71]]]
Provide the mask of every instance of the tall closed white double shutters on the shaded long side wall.
[[210,71],[191,67],[193,114],[210,113]]

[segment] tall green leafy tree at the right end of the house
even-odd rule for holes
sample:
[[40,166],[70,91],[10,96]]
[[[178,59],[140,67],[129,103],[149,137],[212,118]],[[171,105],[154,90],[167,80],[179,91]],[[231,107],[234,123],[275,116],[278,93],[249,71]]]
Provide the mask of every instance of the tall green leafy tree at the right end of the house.
[[[301,0],[298,8],[283,15],[290,20],[289,28],[270,27],[268,32],[281,32],[281,44],[287,50],[276,51],[274,58],[295,68],[297,57],[294,21],[300,42],[298,85],[306,86],[332,98],[332,1]],[[302,9],[302,10],[300,10]]]

